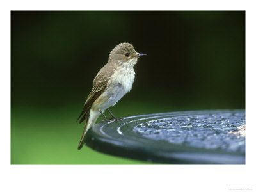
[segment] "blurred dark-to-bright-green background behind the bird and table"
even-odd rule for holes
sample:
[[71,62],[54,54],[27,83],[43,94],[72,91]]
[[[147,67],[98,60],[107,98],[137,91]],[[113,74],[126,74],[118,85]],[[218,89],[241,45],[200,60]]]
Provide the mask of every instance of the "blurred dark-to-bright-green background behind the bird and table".
[[77,150],[76,119],[121,42],[147,56],[116,116],[245,108],[243,11],[13,11],[11,164],[146,164]]

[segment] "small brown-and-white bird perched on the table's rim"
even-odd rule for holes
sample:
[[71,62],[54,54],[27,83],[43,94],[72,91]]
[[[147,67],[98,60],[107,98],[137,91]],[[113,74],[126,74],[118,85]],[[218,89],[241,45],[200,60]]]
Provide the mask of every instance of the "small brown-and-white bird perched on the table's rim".
[[[95,76],[92,90],[77,118],[79,124],[86,121],[78,150],[83,147],[86,132],[95,124],[100,114],[107,122],[122,119],[116,118],[108,108],[114,106],[118,100],[130,92],[135,77],[133,67],[138,58],[145,55],[136,52],[132,44],[129,43],[120,43],[110,52],[108,63]],[[104,115],[106,109],[112,118],[106,118]]]

